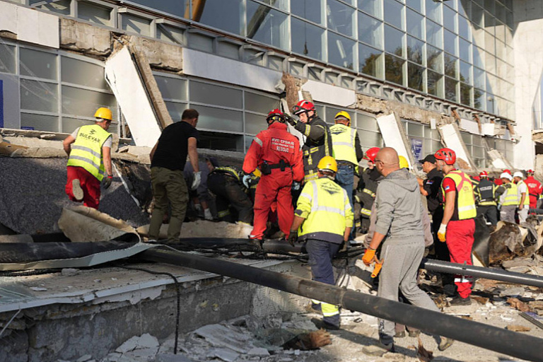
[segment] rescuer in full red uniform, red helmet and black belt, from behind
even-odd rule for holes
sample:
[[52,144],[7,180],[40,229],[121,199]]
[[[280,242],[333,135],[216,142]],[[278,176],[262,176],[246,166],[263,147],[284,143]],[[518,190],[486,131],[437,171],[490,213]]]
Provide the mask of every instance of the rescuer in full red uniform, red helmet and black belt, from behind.
[[255,193],[255,219],[250,239],[262,245],[271,204],[277,202],[279,228],[288,235],[294,218],[291,187],[303,180],[303,160],[300,142],[287,132],[281,110],[272,110],[266,118],[268,129],[252,141],[243,161],[244,181],[259,168],[262,173]]

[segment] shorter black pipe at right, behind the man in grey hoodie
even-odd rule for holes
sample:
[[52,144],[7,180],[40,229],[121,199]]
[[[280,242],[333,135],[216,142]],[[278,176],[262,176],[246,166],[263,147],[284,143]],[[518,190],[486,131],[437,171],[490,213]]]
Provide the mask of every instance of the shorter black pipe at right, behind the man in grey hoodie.
[[543,288],[543,277],[538,275],[515,273],[500,269],[474,267],[473,265],[455,264],[436,259],[423,259],[421,268],[447,274],[477,276],[477,278],[507,281],[508,283],[538,286]]

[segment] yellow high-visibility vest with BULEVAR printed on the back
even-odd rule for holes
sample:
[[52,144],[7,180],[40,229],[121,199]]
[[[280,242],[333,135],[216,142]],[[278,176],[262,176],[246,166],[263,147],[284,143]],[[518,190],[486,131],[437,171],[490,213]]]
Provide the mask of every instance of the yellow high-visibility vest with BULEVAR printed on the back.
[[81,126],[71,145],[68,165],[82,167],[102,181],[105,176],[102,146],[109,136],[111,134],[98,124]]

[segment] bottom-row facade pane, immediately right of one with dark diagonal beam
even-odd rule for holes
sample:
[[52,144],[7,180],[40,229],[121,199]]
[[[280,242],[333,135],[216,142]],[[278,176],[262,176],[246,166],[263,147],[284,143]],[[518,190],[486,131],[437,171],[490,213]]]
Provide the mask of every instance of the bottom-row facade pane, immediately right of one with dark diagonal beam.
[[307,57],[324,60],[325,30],[305,21],[292,18],[292,51]]

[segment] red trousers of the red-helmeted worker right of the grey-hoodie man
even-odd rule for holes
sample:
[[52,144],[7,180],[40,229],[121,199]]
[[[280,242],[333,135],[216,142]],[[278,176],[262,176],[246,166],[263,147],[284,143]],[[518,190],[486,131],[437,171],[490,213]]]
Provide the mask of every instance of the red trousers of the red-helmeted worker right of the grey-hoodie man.
[[[450,262],[472,265],[472,247],[475,233],[475,221],[467,220],[449,221],[445,240],[449,248]],[[472,293],[472,276],[455,274],[455,284],[458,294],[467,298]]]

